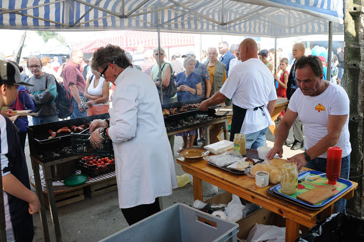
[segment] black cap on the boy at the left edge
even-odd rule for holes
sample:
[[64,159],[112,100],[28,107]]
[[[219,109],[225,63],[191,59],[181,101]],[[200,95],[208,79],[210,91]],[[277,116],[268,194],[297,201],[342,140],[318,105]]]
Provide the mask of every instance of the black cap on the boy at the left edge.
[[34,86],[21,81],[19,68],[11,62],[0,60],[0,85],[14,84]]

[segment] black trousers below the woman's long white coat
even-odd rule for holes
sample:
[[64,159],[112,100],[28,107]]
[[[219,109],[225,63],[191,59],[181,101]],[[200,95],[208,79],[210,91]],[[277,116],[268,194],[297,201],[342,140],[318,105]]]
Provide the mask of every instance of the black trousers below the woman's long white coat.
[[128,209],[121,209],[126,222],[130,225],[138,223],[139,221],[158,213],[160,210],[159,199],[155,199],[153,204],[142,204]]

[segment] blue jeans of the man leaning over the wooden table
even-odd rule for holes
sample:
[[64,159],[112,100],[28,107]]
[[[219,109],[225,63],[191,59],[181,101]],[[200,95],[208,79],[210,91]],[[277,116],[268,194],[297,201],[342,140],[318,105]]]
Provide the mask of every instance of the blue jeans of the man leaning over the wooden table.
[[[306,167],[315,171],[326,173],[326,163],[327,158],[319,158],[316,157],[309,162],[307,162]],[[343,179],[349,179],[349,170],[350,170],[350,154],[348,156],[341,158],[341,170],[340,177]],[[334,213],[346,212],[346,199],[340,198],[334,204]]]

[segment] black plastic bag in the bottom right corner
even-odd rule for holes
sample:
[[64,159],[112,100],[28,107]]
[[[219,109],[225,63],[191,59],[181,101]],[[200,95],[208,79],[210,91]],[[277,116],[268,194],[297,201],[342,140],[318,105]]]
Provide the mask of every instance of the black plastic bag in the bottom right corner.
[[333,214],[317,223],[296,241],[364,241],[364,220],[345,213]]

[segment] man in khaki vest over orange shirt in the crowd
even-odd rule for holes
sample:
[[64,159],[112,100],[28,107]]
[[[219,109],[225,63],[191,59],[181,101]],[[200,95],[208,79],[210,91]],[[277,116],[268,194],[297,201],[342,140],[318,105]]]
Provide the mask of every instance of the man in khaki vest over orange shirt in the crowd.
[[222,84],[226,80],[225,64],[217,60],[217,50],[215,47],[209,47],[207,49],[208,61],[204,64],[207,66],[207,70],[210,74],[211,82],[211,96],[217,93]]

